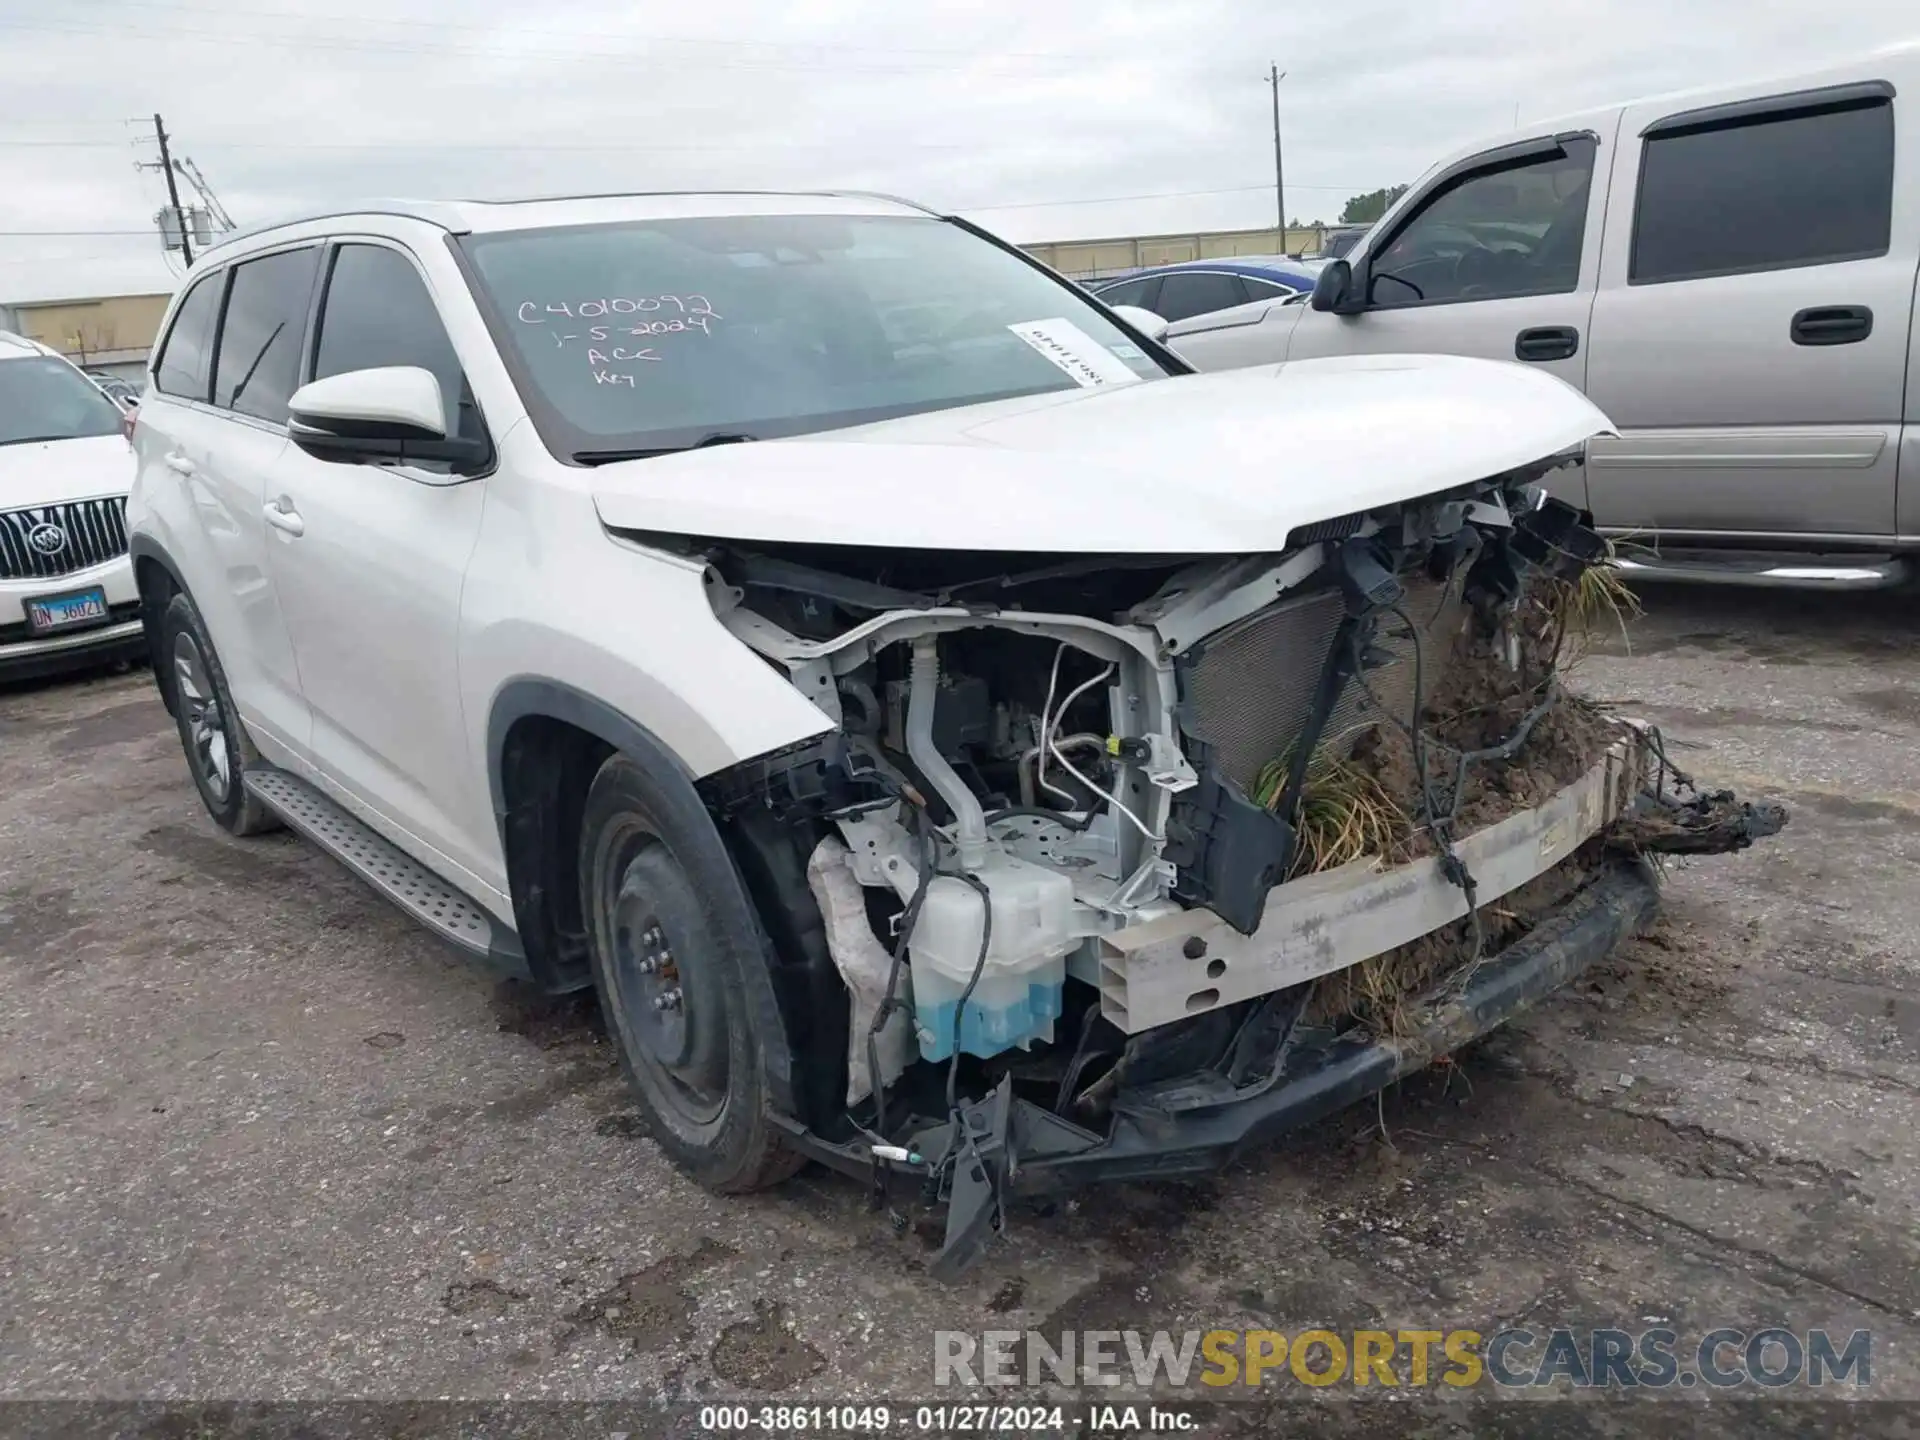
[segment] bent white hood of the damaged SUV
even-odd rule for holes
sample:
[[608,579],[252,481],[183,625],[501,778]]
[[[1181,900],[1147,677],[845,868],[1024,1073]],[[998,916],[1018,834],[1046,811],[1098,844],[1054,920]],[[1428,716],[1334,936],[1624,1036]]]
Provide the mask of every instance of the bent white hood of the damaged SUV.
[[1551,374],[1352,355],[1071,390],[593,472],[618,530],[914,549],[1244,555],[1611,430]]

